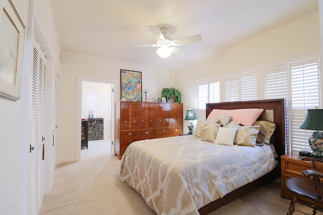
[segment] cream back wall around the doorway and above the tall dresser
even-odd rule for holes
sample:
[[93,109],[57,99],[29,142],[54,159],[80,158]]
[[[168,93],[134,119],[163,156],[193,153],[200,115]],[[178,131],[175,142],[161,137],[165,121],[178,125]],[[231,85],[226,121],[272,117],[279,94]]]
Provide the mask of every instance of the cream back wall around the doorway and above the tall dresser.
[[[77,160],[76,138],[77,121],[77,77],[92,77],[111,80],[115,86],[115,101],[120,101],[120,69],[142,72],[142,89],[147,88],[147,101],[160,97],[164,87],[175,86],[175,74],[172,69],[162,69],[130,62],[99,58],[69,52],[62,52],[62,106],[61,106],[61,146],[60,163]],[[171,78],[172,77],[172,78]],[[143,94],[144,100],[144,94]],[[70,110],[67,109],[70,108]],[[77,119],[79,118],[79,119]]]

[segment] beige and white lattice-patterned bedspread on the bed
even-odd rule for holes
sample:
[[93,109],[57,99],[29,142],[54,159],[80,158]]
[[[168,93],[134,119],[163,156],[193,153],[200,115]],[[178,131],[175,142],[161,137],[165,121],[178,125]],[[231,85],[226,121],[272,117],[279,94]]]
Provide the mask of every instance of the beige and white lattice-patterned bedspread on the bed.
[[274,167],[267,145],[229,147],[183,135],[133,142],[120,176],[157,214],[199,214],[200,207]]

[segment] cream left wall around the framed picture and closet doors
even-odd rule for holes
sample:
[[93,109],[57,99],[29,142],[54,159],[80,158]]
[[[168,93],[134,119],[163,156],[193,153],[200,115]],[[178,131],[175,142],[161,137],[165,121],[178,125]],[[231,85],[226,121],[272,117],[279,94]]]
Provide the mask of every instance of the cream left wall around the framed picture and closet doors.
[[[12,0],[17,13],[26,27],[24,57],[21,74],[21,99],[12,102],[0,98],[0,112],[2,113],[0,123],[0,213],[1,214],[29,214],[28,200],[30,194],[29,169],[30,154],[28,138],[28,129],[30,122],[28,121],[29,104],[29,76],[30,76],[30,37],[28,31],[32,25],[28,21],[33,17],[29,13],[29,4],[34,3],[33,0],[21,1]],[[39,5],[37,4],[39,3]],[[49,0],[37,0],[36,7],[40,14],[40,19],[44,28],[42,29],[48,39],[48,46],[52,50],[53,58],[59,62],[60,43],[58,41],[56,27],[53,25],[53,17]],[[30,36],[30,35],[29,35]],[[60,63],[57,64],[58,70]]]

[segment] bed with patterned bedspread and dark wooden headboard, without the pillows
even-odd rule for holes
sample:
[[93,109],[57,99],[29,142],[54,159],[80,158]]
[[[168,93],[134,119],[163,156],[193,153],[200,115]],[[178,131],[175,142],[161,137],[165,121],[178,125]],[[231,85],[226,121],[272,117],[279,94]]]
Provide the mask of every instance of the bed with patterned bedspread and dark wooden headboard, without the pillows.
[[216,210],[280,177],[279,157],[287,149],[285,106],[284,99],[206,104],[206,117],[214,109],[263,109],[257,121],[276,125],[271,136],[276,161],[267,144],[226,146],[195,135],[140,140],[122,157],[121,181],[140,193],[157,214]]

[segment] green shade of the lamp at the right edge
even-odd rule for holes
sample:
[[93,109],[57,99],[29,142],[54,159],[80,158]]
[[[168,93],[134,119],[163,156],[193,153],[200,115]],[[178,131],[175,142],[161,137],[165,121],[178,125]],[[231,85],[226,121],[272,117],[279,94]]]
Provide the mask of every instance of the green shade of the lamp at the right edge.
[[299,128],[323,130],[323,109],[308,109],[306,118]]

